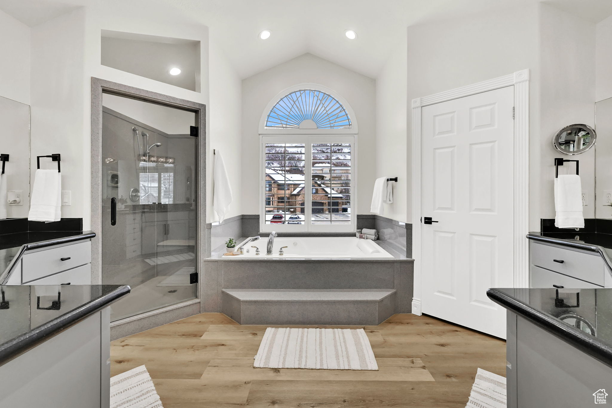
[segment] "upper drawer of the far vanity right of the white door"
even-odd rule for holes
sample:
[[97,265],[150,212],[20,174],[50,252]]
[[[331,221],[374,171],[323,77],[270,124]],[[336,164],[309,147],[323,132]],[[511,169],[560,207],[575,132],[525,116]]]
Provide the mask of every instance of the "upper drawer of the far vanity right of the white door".
[[531,264],[603,286],[606,264],[599,254],[531,243]]

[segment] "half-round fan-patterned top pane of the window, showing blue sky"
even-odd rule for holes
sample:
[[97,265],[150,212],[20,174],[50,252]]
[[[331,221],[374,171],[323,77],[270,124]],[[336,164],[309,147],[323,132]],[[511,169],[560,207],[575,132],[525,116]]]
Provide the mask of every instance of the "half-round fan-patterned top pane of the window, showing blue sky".
[[315,89],[300,89],[283,97],[271,109],[266,128],[351,128],[346,109],[332,95]]

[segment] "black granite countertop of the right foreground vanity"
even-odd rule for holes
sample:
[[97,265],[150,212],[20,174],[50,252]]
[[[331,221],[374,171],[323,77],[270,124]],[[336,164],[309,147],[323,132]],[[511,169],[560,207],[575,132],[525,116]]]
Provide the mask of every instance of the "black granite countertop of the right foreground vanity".
[[489,289],[487,295],[504,308],[612,367],[612,288],[494,288]]

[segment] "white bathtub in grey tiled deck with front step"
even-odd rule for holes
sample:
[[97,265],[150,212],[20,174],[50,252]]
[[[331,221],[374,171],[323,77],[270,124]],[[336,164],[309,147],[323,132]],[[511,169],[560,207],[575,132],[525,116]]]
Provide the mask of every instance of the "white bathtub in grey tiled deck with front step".
[[[272,256],[265,254],[264,237],[249,243],[260,248],[260,255],[223,256],[225,248],[218,248],[205,260],[204,310],[241,324],[371,325],[394,313],[410,313],[413,259],[384,241],[368,242],[373,245],[366,250],[376,252],[364,256],[355,247],[364,240],[342,237],[332,244],[326,239],[331,238],[277,237]],[[307,245],[318,251],[297,253]],[[321,256],[329,252],[326,245],[345,251]],[[282,246],[297,248],[278,256]]]

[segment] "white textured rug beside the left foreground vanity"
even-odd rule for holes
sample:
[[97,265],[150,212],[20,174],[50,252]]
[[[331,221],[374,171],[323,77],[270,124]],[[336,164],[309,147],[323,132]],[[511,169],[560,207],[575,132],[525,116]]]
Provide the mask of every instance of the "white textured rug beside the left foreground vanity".
[[111,377],[110,408],[163,408],[145,366]]

